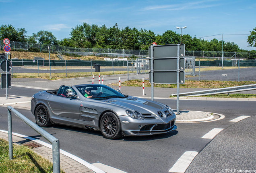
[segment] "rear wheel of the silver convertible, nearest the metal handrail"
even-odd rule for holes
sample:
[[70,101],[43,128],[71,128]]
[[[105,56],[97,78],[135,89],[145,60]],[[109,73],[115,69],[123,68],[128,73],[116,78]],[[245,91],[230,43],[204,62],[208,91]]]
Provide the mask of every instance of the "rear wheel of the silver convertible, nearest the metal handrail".
[[40,127],[48,127],[52,125],[49,112],[45,106],[40,105],[37,107],[35,110],[35,121]]

